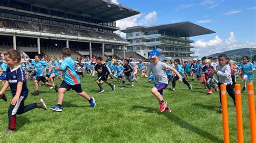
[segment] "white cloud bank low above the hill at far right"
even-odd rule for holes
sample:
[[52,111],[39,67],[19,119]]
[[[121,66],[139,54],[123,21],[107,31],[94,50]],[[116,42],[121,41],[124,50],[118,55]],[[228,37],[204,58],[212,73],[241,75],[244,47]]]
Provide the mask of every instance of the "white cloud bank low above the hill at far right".
[[[232,49],[239,49],[239,48],[252,48],[256,47],[256,42],[244,42],[239,43],[235,39],[235,35],[233,32],[230,32],[230,37],[225,40],[222,40],[215,35],[214,39],[205,41],[204,39],[197,40],[194,42],[194,48],[192,51],[195,52],[194,55],[198,55],[199,57],[207,56],[215,53],[221,53],[225,51],[230,51]],[[192,44],[191,44],[192,45]]]

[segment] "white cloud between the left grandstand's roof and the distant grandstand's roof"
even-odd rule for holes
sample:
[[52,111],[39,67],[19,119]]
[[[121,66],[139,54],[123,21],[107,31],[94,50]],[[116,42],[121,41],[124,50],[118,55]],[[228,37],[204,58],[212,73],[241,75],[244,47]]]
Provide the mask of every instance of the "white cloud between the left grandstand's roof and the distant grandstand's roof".
[[[116,21],[117,27],[120,27],[121,30],[124,30],[126,27],[138,26],[138,25],[148,25],[157,20],[157,12],[152,11],[150,13],[139,14],[136,16],[124,18]],[[117,31],[117,34],[120,34],[121,37],[125,37],[125,33]]]

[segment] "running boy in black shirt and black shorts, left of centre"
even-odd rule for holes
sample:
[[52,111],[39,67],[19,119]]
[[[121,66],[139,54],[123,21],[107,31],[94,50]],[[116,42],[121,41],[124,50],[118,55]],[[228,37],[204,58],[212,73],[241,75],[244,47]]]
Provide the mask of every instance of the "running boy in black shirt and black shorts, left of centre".
[[103,59],[101,57],[98,57],[96,60],[97,65],[95,66],[95,70],[98,73],[98,78],[96,80],[96,83],[99,86],[99,91],[98,91],[99,94],[104,92],[104,89],[102,88],[102,84],[100,83],[101,81],[104,81],[106,84],[109,84],[109,86],[112,88],[112,91],[114,91],[114,88],[116,87],[116,85],[112,85],[109,81],[107,81],[106,76],[108,76],[110,73],[106,65],[102,63],[102,60]]

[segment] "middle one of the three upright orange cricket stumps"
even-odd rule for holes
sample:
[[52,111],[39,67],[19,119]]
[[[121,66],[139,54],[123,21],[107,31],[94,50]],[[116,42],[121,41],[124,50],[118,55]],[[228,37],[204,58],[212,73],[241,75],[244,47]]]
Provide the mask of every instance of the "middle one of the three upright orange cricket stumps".
[[244,142],[242,131],[242,102],[241,102],[241,85],[235,84],[235,109],[237,111],[237,142]]

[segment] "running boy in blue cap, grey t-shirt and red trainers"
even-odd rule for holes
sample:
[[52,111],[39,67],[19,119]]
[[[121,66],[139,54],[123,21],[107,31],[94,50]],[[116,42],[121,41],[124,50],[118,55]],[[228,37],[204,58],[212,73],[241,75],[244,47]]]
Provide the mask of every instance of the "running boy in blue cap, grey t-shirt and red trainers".
[[160,53],[157,50],[153,50],[150,53],[152,63],[150,63],[149,67],[145,74],[142,74],[142,77],[148,77],[152,72],[154,77],[156,78],[156,84],[151,89],[151,92],[154,96],[157,97],[160,104],[160,112],[171,112],[171,109],[167,106],[167,102],[163,99],[163,90],[168,86],[168,78],[166,75],[166,69],[172,70],[178,77],[179,81],[182,81],[181,76],[178,71],[171,66],[168,66],[166,63],[159,61]]

